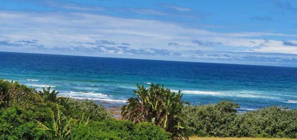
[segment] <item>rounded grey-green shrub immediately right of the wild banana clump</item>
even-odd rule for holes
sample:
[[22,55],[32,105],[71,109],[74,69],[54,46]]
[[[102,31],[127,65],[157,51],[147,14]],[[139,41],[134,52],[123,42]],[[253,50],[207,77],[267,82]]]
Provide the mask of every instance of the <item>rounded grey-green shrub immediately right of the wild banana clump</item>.
[[230,101],[222,101],[214,105],[186,106],[186,123],[189,135],[198,136],[233,136],[231,122],[236,118],[239,105]]

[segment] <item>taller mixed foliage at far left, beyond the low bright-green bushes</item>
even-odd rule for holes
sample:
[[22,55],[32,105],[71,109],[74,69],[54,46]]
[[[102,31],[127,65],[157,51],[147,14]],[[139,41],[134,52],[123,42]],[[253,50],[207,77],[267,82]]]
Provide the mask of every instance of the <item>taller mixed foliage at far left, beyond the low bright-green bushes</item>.
[[[83,113],[94,120],[108,119],[111,116],[94,102],[57,97],[57,92],[50,92],[50,89],[44,93],[40,94],[34,88],[18,82],[0,79],[0,139],[59,139],[70,134],[72,122],[73,125],[81,124]],[[71,116],[76,116],[77,120],[68,120]],[[84,120],[89,121],[88,116]],[[38,122],[43,124],[43,128],[47,127],[52,131],[39,129],[41,125]]]

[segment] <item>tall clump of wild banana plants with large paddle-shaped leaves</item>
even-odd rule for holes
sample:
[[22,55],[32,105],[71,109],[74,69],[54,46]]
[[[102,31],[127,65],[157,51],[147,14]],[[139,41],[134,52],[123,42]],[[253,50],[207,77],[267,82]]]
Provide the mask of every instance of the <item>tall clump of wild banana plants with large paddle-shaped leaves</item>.
[[159,84],[151,84],[149,89],[137,85],[138,91],[133,90],[137,98],[129,98],[127,105],[121,110],[124,119],[138,122],[152,122],[170,132],[173,137],[181,138],[185,135],[185,125],[182,115],[184,103],[181,101],[181,91],[177,94],[170,89],[162,88]]

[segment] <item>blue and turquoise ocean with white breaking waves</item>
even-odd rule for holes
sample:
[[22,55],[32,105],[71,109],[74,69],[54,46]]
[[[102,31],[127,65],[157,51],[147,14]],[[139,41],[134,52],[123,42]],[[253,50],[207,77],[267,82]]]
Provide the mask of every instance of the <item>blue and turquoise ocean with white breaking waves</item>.
[[61,96],[124,105],[136,84],[165,84],[195,104],[232,100],[241,111],[297,108],[297,68],[0,52],[0,78]]

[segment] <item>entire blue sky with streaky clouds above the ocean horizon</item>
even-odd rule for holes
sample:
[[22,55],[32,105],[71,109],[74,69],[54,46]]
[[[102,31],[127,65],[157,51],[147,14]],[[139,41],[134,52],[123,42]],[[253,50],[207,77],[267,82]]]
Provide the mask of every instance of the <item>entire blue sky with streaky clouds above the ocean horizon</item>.
[[297,1],[1,0],[0,51],[297,67]]

